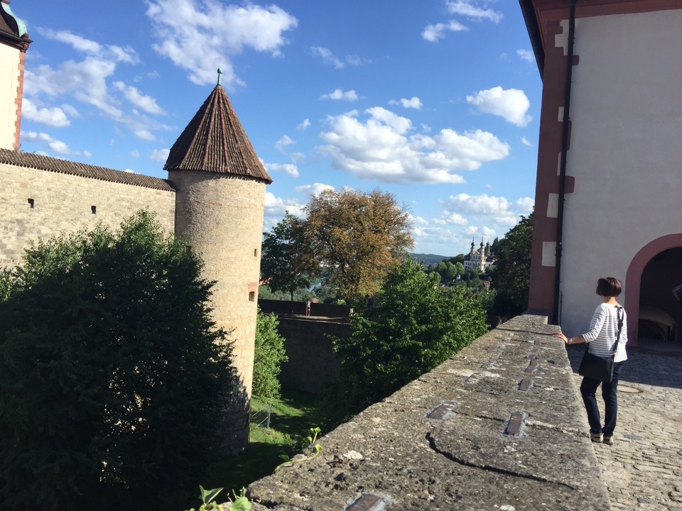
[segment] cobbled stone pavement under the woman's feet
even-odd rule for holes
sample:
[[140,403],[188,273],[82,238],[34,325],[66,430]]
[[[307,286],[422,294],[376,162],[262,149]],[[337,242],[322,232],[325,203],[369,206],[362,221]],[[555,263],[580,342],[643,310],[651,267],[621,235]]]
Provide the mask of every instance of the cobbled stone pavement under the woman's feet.
[[[568,348],[574,372],[584,351]],[[575,373],[578,388],[581,380]],[[614,440],[593,444],[612,509],[682,511],[682,350],[628,351]]]

